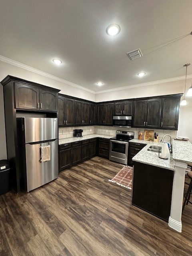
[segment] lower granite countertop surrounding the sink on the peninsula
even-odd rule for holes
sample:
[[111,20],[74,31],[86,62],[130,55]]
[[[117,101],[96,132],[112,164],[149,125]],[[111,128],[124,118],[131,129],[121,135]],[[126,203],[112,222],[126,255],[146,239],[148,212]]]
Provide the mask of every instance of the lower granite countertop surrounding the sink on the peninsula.
[[150,143],[148,143],[144,148],[142,148],[142,150],[140,150],[140,152],[138,152],[132,158],[132,160],[136,161],[136,162],[143,163],[143,164],[150,164],[150,165],[153,165],[153,166],[165,168],[165,169],[168,169],[168,170],[174,170],[174,160],[173,160],[172,154],[170,154],[170,157],[167,160],[161,159],[161,158],[159,158],[159,153],[158,152],[148,151],[148,148],[151,145],[161,146],[162,143],[161,142],[150,142]]

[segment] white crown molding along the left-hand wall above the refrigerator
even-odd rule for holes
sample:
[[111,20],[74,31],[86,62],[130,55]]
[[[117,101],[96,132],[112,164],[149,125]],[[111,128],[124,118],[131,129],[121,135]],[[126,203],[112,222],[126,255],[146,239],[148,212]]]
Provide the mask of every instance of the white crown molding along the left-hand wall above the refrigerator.
[[13,66],[17,66],[17,67],[19,67],[19,68],[23,68],[23,69],[29,70],[29,71],[31,71],[31,72],[34,72],[34,73],[36,73],[36,74],[40,74],[40,75],[42,75],[42,76],[46,76],[46,77],[51,78],[51,79],[54,79],[54,80],[56,80],[56,81],[58,81],[58,82],[62,82],[62,83],[68,84],[68,85],[70,85],[70,86],[74,86],[74,87],[79,88],[79,89],[82,89],[82,90],[84,90],[84,91],[86,91],[86,92],[91,92],[92,94],[95,94],[94,91],[92,91],[92,90],[90,90],[90,89],[87,89],[87,88],[84,88],[83,86],[80,86],[80,85],[78,85],[78,84],[74,84],[74,83],[72,83],[72,82],[69,82],[69,81],[64,80],[64,79],[62,79],[62,78],[59,78],[59,77],[57,77],[57,76],[53,76],[53,75],[51,75],[51,74],[48,74],[48,73],[43,72],[43,71],[41,71],[41,70],[38,70],[38,69],[36,69],[36,68],[32,68],[32,67],[27,66],[27,65],[25,65],[25,64],[23,64],[23,63],[20,63],[20,62],[18,62],[18,61],[15,61],[15,60],[6,58],[6,57],[4,57],[4,56],[2,56],[2,55],[0,55],[0,61],[6,62],[6,63],[11,64],[11,65],[13,65]]

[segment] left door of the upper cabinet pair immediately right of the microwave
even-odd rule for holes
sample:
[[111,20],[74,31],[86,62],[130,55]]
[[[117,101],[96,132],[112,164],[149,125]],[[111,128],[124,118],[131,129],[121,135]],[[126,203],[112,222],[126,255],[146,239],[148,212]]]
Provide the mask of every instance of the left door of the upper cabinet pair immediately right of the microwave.
[[134,127],[144,128],[146,125],[147,100],[134,101]]

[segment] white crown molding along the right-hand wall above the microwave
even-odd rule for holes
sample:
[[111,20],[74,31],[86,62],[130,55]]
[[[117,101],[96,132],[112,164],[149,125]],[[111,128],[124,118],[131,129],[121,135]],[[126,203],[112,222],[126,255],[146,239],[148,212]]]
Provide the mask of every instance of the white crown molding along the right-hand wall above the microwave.
[[[192,74],[187,76],[187,79],[189,79],[189,78],[192,78]],[[174,77],[174,78],[156,80],[156,81],[146,82],[146,83],[142,83],[142,84],[133,84],[133,85],[127,85],[127,86],[118,87],[118,88],[114,88],[114,89],[102,90],[102,91],[95,92],[95,94],[100,94],[100,93],[104,93],[104,92],[115,92],[115,91],[124,90],[124,89],[137,88],[137,87],[154,85],[154,84],[162,84],[162,83],[167,83],[167,82],[174,82],[174,81],[183,80],[183,79],[185,79],[185,76],[178,76],[178,77]]]

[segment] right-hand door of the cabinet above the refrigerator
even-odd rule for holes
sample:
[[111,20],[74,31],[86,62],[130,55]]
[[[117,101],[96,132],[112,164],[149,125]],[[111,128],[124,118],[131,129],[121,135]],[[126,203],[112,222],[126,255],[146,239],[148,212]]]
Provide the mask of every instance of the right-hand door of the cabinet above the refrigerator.
[[40,110],[57,112],[58,93],[40,89]]

